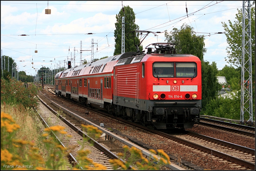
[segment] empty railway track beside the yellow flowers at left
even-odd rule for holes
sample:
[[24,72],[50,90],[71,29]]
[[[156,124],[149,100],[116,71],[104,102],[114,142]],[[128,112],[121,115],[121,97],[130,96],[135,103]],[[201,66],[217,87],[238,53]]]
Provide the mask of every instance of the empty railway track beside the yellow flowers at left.
[[[110,152],[107,148],[105,148],[104,146],[102,146],[101,144],[93,140],[91,137],[86,135],[86,133],[82,131],[81,126],[76,127],[75,125],[72,124],[72,120],[68,121],[67,120],[68,118],[65,119],[62,116],[58,115],[56,111],[58,111],[59,109],[57,107],[51,104],[47,105],[40,97],[38,98],[40,99],[41,103],[43,103],[44,106],[46,106],[52,113],[54,113],[59,117],[58,119],[57,116],[53,117],[53,116],[50,116],[49,114],[44,113],[44,114],[41,114],[42,119],[47,120],[47,118],[50,117],[52,121],[51,126],[53,125],[63,126],[66,128],[65,131],[67,131],[68,134],[72,136],[72,138],[67,138],[66,136],[57,135],[59,136],[60,143],[63,144],[64,147],[70,147],[70,146],[76,145],[76,148],[73,149],[72,152],[70,152],[69,154],[71,163],[76,162],[79,164],[79,161],[76,161],[76,157],[78,156],[78,152],[81,149],[83,149],[83,150],[90,151],[90,154],[88,154],[87,157],[89,159],[92,159],[94,163],[101,164],[105,166],[108,170],[113,169],[113,165],[109,162],[109,159],[119,159],[113,152]],[[83,137],[87,137],[89,140],[81,141],[83,140]],[[91,144],[93,144],[93,146]],[[122,159],[120,160],[124,162],[124,160]],[[81,167],[81,169],[82,168],[83,167]]]

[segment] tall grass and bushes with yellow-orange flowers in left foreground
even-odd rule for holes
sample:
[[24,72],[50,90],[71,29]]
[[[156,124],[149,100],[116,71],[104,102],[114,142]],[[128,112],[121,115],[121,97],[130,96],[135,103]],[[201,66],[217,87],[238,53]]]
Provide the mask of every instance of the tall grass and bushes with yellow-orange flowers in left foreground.
[[[89,159],[87,155],[90,151],[83,148],[77,156],[79,165],[72,167],[67,164],[65,157],[75,147],[64,148],[50,135],[51,132],[62,134],[67,139],[72,136],[63,131],[64,127],[61,126],[43,127],[32,108],[37,105],[36,94],[37,89],[34,85],[25,89],[22,82],[1,79],[1,170],[107,169]],[[98,128],[90,125],[82,125],[82,127],[94,138],[100,137],[101,131]],[[158,164],[152,164],[135,147],[124,146],[124,150],[124,153],[118,155],[125,157],[130,153],[128,158],[130,161],[123,164],[118,159],[110,159],[114,169],[128,169],[132,159],[141,159],[141,162],[134,163],[140,170],[157,170],[160,164],[170,163],[168,155],[162,150],[158,151],[162,156],[156,159]]]

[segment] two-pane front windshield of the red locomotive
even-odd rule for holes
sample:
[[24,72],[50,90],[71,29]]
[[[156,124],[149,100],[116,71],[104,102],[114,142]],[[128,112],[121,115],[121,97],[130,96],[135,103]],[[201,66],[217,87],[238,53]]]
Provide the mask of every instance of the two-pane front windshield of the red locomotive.
[[[175,65],[175,69],[174,69]],[[175,70],[175,72],[174,72]],[[175,73],[175,74],[174,74]],[[153,64],[154,77],[196,77],[194,62],[156,62]]]

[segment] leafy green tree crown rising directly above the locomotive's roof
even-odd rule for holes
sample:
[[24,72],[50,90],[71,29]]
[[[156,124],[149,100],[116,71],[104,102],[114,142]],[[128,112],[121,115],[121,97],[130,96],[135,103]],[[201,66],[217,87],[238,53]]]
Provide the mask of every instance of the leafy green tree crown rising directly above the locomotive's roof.
[[177,44],[180,47],[180,49],[177,49],[177,53],[192,54],[203,61],[204,53],[206,52],[204,36],[196,35],[193,29],[193,27],[183,24],[180,30],[173,28],[170,33],[165,30],[165,41]]

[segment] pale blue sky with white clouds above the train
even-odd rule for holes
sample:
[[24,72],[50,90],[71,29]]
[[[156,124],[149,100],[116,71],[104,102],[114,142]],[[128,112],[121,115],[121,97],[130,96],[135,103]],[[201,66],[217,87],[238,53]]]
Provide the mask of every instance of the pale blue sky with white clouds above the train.
[[196,35],[204,35],[205,61],[215,61],[218,69],[230,65],[225,61],[226,36],[216,33],[225,31],[221,22],[234,23],[242,1],[1,1],[2,55],[12,57],[18,71],[28,75],[42,66],[67,67],[71,59],[72,66],[80,65],[81,41],[82,60],[91,61],[92,45],[94,58],[113,56],[116,14],[122,5],[133,9],[140,31],[161,32],[150,33],[143,48],[164,43],[165,30],[186,23]]

